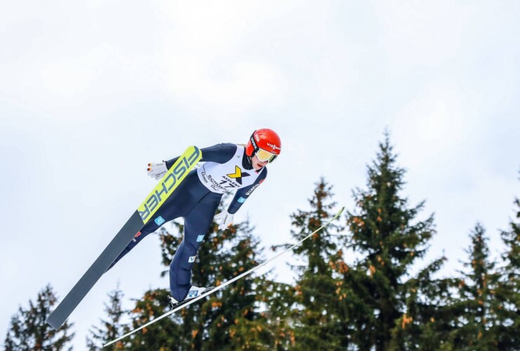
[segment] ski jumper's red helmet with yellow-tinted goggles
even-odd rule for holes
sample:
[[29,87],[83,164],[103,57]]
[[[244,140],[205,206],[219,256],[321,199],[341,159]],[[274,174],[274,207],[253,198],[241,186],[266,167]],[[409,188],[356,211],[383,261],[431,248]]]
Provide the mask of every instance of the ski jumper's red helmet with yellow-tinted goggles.
[[245,154],[256,157],[260,161],[272,162],[282,151],[282,142],[278,134],[272,129],[263,128],[254,131],[245,147]]

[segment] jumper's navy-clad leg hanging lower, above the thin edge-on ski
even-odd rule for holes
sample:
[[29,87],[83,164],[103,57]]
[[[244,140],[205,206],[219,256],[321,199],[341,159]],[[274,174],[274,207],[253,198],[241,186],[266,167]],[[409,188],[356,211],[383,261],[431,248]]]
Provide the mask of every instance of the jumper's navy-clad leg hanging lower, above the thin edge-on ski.
[[181,301],[186,298],[191,287],[191,267],[195,262],[197,251],[212,225],[213,216],[219,206],[220,196],[211,194],[209,199],[204,199],[193,208],[184,218],[184,238],[175,253],[170,265],[170,291],[171,296]]

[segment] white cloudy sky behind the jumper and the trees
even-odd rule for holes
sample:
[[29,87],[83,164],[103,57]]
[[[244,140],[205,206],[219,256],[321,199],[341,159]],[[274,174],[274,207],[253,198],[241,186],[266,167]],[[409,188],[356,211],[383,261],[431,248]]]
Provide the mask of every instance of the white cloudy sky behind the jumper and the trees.
[[[89,267],[153,187],[149,161],[254,128],[283,143],[238,214],[266,246],[320,176],[352,208],[388,127],[404,194],[436,213],[429,257],[457,269],[477,220],[496,253],[520,195],[520,3],[396,2],[2,2],[1,340],[18,304]],[[159,270],[149,237],[72,314],[77,348],[117,280],[137,298],[168,286]]]

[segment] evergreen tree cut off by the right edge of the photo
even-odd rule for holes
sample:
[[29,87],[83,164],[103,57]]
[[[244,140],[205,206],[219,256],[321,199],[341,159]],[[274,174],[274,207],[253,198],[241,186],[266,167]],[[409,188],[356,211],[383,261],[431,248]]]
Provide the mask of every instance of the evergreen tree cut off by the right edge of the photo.
[[502,231],[505,244],[502,254],[504,265],[500,282],[496,289],[499,301],[497,313],[497,339],[499,350],[517,350],[520,345],[520,201],[515,200],[516,222],[509,224],[508,231]]

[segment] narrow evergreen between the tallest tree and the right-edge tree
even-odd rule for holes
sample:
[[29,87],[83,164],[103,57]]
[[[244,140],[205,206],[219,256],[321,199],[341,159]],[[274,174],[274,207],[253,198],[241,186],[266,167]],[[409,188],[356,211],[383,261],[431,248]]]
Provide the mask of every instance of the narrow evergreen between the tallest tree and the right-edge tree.
[[482,225],[474,227],[470,238],[469,262],[464,263],[469,270],[461,272],[457,329],[451,333],[450,343],[454,350],[498,350],[495,289],[499,275],[490,260],[488,237]]

